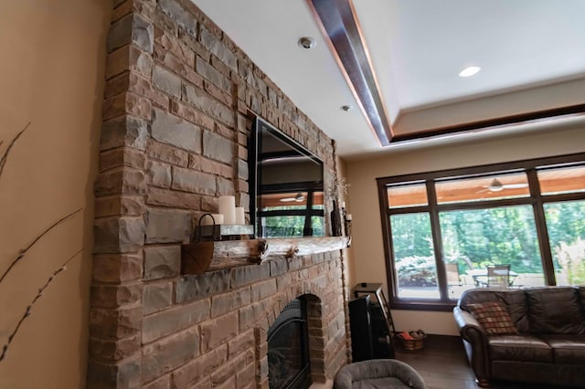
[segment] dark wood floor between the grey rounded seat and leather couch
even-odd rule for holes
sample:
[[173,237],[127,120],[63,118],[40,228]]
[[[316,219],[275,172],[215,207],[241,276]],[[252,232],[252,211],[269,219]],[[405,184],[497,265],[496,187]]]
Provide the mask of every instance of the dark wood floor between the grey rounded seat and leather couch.
[[[420,373],[428,389],[477,389],[475,376],[467,362],[461,339],[456,336],[430,335],[424,348],[396,349],[396,358],[409,363]],[[563,389],[561,386],[495,383],[491,389]]]

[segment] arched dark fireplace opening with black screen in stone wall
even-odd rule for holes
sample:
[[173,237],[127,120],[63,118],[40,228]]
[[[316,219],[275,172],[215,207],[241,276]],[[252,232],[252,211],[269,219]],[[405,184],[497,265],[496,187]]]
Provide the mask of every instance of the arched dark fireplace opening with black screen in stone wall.
[[301,389],[312,384],[307,304],[292,300],[268,330],[268,381],[271,389]]

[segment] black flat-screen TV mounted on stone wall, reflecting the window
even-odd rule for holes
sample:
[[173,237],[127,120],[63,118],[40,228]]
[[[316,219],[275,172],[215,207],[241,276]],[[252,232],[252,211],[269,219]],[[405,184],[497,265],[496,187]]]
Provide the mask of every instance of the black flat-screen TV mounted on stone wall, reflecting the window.
[[323,237],[323,161],[267,121],[249,144],[250,220],[257,237]]

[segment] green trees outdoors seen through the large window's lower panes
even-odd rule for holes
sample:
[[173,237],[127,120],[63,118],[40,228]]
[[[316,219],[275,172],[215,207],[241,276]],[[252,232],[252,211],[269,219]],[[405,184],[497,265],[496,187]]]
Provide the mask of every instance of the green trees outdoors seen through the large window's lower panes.
[[[569,255],[585,239],[585,201],[544,208],[555,267],[565,272],[570,268],[570,283],[585,283],[585,257]],[[439,217],[442,257],[458,263],[460,271],[510,264],[516,273],[543,272],[531,205],[446,211]],[[390,225],[400,285],[436,285],[430,215],[392,215]]]

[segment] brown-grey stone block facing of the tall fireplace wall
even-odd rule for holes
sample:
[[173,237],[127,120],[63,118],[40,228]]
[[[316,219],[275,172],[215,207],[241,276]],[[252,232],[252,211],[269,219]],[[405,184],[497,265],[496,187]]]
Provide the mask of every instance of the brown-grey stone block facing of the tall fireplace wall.
[[[335,143],[188,0],[114,0],[107,37],[89,388],[267,388],[266,331],[309,302],[314,381],[349,355],[342,251],[180,275],[219,195],[248,208],[256,112],[335,172]],[[335,194],[328,194],[334,195]]]

